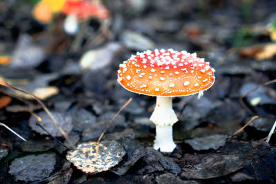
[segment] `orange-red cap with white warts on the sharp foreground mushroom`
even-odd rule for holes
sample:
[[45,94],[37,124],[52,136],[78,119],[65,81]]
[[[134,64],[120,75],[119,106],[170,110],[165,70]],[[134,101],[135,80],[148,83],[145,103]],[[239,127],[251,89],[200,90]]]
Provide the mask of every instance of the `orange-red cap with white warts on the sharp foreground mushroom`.
[[118,82],[127,90],[150,96],[188,96],[215,82],[208,62],[186,51],[137,52],[118,70]]

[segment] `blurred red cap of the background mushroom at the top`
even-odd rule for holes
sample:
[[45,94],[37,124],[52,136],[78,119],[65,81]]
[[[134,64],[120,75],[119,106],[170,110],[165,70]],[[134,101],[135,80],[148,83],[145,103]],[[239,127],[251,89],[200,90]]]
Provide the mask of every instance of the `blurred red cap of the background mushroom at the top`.
[[84,0],[67,0],[61,12],[64,14],[75,14],[79,19],[88,19],[89,17],[107,19],[109,17],[106,8],[100,4],[92,3],[92,1]]

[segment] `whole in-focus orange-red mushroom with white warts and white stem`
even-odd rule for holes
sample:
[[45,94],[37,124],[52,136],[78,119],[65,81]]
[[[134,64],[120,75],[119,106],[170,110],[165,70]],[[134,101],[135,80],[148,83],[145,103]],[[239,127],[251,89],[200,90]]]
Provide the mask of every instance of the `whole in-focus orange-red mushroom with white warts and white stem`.
[[157,96],[150,116],[150,121],[156,125],[155,150],[172,152],[176,147],[172,125],[178,119],[172,110],[172,97],[198,93],[200,98],[215,82],[214,72],[196,53],[172,49],[137,52],[120,65],[117,81],[126,90]]

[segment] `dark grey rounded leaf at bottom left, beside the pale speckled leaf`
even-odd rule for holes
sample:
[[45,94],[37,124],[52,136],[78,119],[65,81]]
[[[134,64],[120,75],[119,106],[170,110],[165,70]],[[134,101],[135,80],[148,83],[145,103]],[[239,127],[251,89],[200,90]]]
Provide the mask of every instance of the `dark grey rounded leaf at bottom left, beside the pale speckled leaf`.
[[40,181],[50,175],[56,163],[56,154],[30,154],[19,159],[14,159],[10,165],[9,173],[15,180]]

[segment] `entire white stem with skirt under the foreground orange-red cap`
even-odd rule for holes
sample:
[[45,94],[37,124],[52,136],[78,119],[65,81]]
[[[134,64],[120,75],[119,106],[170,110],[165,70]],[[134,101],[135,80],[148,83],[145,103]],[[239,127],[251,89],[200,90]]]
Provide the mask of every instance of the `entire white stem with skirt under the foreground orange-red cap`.
[[172,152],[176,145],[172,139],[172,125],[178,121],[175,111],[172,110],[172,98],[157,96],[155,110],[150,121],[156,125],[155,145],[153,148],[161,152]]

